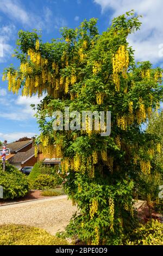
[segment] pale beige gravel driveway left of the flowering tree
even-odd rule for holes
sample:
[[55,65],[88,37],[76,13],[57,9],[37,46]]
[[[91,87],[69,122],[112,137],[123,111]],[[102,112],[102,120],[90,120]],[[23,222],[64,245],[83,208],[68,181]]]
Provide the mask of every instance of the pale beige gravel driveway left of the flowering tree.
[[70,221],[76,207],[66,196],[0,206],[0,224],[26,224],[54,235]]

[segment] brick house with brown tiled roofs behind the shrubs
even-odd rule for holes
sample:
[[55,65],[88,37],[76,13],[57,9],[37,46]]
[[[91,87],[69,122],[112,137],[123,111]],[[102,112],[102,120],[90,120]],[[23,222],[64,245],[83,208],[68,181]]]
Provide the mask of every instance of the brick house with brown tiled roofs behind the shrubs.
[[[0,147],[0,160],[2,154],[2,148]],[[52,159],[49,159],[48,156],[42,154],[39,151],[37,157],[35,157],[34,150],[34,137],[29,141],[21,141],[21,142],[12,142],[6,145],[6,160],[20,169],[25,166],[34,166],[34,164],[38,161],[42,161],[43,164],[48,166],[60,166],[60,158],[56,158],[55,155]]]

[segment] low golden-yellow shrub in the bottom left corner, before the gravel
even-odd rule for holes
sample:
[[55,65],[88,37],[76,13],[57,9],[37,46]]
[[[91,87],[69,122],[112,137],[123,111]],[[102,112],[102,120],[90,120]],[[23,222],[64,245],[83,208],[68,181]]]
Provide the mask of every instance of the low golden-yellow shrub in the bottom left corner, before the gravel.
[[68,245],[65,239],[26,225],[0,225],[0,245]]

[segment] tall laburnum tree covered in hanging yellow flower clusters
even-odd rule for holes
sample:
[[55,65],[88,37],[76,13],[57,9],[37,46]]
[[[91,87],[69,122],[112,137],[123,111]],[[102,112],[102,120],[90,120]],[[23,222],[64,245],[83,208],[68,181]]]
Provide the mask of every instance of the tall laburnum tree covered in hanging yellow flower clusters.
[[[97,20],[61,30],[61,39],[44,43],[39,32],[18,33],[14,56],[20,67],[4,70],[9,90],[44,96],[37,106],[40,150],[61,157],[65,191],[78,207],[67,234],[87,245],[120,245],[136,220],[133,190],[140,173],[158,168],[153,156],[159,139],[142,124],[159,108],[162,70],[135,64],[127,42],[140,28],[133,11],[112,21],[99,34]],[[111,111],[111,135],[86,130],[54,131],[53,112]],[[36,148],[37,153],[37,148]]]

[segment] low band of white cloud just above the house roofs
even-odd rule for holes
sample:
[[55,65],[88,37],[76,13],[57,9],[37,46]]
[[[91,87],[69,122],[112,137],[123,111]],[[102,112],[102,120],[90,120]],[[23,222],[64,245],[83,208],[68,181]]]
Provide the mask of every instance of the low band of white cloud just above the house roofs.
[[12,132],[12,133],[2,133],[0,132],[0,139],[1,141],[8,141],[13,142],[16,141],[17,139],[23,138],[23,137],[29,137],[31,138],[34,136],[35,133],[33,132]]

